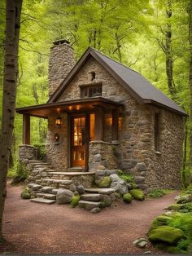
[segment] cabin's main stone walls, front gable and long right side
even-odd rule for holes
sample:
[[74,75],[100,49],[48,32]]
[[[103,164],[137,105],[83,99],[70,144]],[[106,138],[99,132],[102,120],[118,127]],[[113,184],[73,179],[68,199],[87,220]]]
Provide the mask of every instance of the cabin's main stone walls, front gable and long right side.
[[[116,154],[110,153],[110,151],[112,152],[111,146],[107,150],[105,149],[106,152],[103,151],[103,158],[108,157],[108,155],[111,157],[107,163],[112,163],[112,165],[107,166],[107,168],[116,168],[114,166],[117,162],[117,168],[124,170],[125,173],[133,173],[136,176],[136,182],[143,189],[152,187],[178,188],[183,117],[151,105],[138,104],[93,58],[90,58],[81,68],[58,101],[79,99],[81,97],[80,86],[94,84],[90,79],[92,72],[96,75],[94,82],[102,82],[103,84],[102,96],[124,104],[124,111],[121,113],[122,128],[119,132],[119,145],[116,146]],[[154,113],[156,111],[161,114],[160,153],[155,152],[154,147]],[[105,130],[104,135],[105,140],[110,143],[110,133]],[[98,145],[103,147],[104,144]],[[96,166],[94,157],[99,154],[99,152],[93,153],[94,147],[98,146],[90,143],[89,166],[91,168],[92,163],[93,166]],[[100,149],[97,148],[97,150]],[[57,157],[55,162],[59,161],[59,157]],[[99,160],[99,164],[102,161]]]

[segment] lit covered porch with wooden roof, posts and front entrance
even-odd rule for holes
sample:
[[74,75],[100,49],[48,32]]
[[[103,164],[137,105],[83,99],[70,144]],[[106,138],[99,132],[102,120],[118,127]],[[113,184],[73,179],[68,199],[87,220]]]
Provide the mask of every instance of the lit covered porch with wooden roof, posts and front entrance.
[[[97,97],[17,108],[16,112],[23,115],[24,145],[30,145],[30,117],[47,118],[51,123],[48,126],[50,148],[58,151],[55,154],[55,165],[64,159],[65,165],[62,169],[81,167],[84,170],[93,170],[103,162],[109,167],[111,146],[118,144],[120,113],[123,107],[123,104]],[[110,129],[107,128],[107,123]],[[110,137],[110,141],[107,137]],[[60,151],[59,147],[62,148]],[[49,147],[47,150],[49,151]],[[108,161],[106,157],[109,158]]]

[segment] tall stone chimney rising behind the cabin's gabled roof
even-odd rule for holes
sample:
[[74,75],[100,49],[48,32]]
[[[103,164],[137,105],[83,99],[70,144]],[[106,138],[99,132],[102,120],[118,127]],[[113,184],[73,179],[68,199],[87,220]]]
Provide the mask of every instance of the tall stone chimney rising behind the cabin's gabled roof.
[[49,96],[52,95],[75,65],[70,42],[61,39],[50,48]]

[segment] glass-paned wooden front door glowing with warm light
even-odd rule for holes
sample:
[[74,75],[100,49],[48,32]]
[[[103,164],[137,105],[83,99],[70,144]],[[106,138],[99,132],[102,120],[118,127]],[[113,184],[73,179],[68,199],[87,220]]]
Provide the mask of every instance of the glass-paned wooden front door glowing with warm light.
[[72,117],[71,119],[71,166],[85,168],[87,136],[85,116]]

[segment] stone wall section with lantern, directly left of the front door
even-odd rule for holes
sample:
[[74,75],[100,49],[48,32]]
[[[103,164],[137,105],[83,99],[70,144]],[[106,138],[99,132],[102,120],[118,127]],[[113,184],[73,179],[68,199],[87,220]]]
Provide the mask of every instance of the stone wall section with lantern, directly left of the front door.
[[[61,125],[56,126],[55,120],[61,117]],[[55,135],[59,140],[55,141]],[[68,168],[68,114],[62,113],[49,117],[46,138],[47,161],[54,166],[55,170],[63,171]]]

